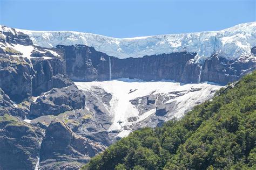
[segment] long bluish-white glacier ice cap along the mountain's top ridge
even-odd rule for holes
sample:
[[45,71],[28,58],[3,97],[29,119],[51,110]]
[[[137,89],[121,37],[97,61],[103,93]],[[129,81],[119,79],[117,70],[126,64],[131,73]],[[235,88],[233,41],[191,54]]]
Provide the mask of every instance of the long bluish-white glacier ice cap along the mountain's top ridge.
[[256,46],[256,22],[235,25],[221,31],[123,39],[73,31],[16,31],[28,34],[34,45],[51,48],[57,45],[84,44],[117,58],[188,52],[197,53],[196,61],[199,62],[213,53],[219,53],[224,58],[232,60],[238,59],[241,55],[250,55],[251,48]]

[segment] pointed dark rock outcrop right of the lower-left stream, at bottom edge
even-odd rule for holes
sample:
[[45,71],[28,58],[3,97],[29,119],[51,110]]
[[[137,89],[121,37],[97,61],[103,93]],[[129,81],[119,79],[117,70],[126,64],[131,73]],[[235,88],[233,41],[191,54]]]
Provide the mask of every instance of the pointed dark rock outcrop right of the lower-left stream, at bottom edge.
[[[103,150],[103,146],[97,144],[96,142],[92,142],[90,139],[80,137],[72,132],[69,126],[65,123],[52,122],[48,129],[46,129],[45,137],[41,145],[41,167],[43,169],[52,168],[51,162],[56,164],[58,161],[78,161],[80,163],[86,163],[89,161],[90,157],[93,157],[98,152],[102,152]],[[73,166],[75,165],[65,168],[77,169],[79,167]]]

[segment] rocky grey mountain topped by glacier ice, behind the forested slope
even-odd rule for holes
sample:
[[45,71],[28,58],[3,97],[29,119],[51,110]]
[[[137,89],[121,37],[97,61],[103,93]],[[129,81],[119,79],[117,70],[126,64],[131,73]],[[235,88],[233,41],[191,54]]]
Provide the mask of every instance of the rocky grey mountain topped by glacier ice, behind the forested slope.
[[256,69],[255,28],[118,39],[1,26],[0,147],[18,154],[0,163],[76,169],[133,130],[181,118]]

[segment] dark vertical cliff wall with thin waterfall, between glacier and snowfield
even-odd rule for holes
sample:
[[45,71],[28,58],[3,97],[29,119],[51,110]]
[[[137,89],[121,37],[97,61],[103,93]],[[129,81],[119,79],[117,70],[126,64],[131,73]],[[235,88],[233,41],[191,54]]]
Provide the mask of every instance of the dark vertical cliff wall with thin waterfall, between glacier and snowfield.
[[179,81],[186,63],[196,55],[173,53],[118,59],[85,45],[58,48],[64,50],[67,74],[74,81],[100,81],[123,77],[145,81]]

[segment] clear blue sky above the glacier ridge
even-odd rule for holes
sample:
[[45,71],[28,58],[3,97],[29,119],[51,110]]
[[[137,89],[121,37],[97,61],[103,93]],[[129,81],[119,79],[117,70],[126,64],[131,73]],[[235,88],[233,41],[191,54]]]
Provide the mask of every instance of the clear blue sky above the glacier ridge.
[[215,31],[254,22],[256,0],[0,0],[0,23],[125,38]]

